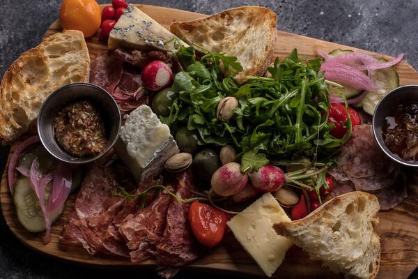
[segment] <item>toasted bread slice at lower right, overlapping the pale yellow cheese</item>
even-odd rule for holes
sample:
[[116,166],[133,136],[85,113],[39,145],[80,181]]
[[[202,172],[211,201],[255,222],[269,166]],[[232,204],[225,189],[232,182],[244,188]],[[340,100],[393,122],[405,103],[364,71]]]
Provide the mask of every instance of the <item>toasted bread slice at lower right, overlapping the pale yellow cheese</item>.
[[273,227],[332,271],[346,278],[374,278],[380,262],[380,239],[373,229],[379,209],[376,196],[351,192],[303,219]]

